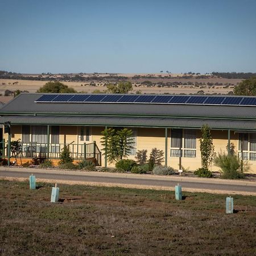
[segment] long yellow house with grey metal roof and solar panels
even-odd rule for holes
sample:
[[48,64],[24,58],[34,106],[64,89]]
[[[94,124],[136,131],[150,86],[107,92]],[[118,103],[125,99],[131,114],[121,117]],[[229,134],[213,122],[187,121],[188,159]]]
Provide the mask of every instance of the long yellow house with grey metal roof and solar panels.
[[[256,97],[22,93],[0,115],[0,123],[10,122],[11,140],[22,142],[23,158],[58,159],[69,144],[73,158],[96,158],[98,165],[111,166],[102,154],[101,131],[130,127],[134,149],[129,158],[135,159],[138,150],[149,155],[156,147],[164,151],[164,164],[189,170],[201,167],[200,129],[207,124],[215,152],[233,143],[256,174]],[[3,139],[6,144],[8,134]]]

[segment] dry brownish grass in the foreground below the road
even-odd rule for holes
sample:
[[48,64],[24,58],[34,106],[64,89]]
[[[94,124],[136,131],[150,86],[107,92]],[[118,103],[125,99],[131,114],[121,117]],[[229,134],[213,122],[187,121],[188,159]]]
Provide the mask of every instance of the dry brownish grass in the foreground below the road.
[[0,180],[0,255],[256,255],[256,200]]

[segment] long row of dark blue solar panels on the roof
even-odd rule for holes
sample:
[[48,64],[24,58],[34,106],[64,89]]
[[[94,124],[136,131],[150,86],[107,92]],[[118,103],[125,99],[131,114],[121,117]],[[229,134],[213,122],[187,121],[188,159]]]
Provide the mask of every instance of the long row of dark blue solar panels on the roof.
[[171,96],[136,94],[44,94],[35,102],[256,106],[256,97]]

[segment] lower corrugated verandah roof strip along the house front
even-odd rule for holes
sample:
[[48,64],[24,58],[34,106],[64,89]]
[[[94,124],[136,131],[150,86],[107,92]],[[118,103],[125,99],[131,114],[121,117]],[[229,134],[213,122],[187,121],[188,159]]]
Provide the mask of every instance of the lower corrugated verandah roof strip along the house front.
[[97,116],[26,116],[0,117],[0,123],[28,125],[94,125],[94,126],[144,126],[144,127],[191,127],[208,124],[212,129],[255,130],[255,121],[227,119],[163,118],[163,117],[97,117]]

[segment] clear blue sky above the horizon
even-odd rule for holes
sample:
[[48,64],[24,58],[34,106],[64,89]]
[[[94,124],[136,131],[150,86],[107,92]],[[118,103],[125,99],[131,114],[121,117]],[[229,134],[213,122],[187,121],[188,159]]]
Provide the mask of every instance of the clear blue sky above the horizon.
[[256,72],[256,0],[0,0],[0,70]]

